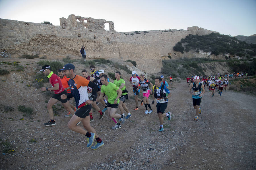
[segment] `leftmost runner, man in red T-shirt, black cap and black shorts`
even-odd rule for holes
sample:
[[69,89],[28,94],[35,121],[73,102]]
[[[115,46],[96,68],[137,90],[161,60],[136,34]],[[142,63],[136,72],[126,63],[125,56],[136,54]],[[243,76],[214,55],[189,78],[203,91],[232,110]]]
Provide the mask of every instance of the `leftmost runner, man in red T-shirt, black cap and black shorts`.
[[71,109],[68,99],[61,99],[61,95],[62,94],[67,95],[67,91],[62,86],[61,79],[59,78],[59,76],[57,76],[51,71],[51,66],[44,65],[40,71],[43,71],[44,75],[46,75],[49,78],[52,86],[52,87],[42,87],[41,90],[43,92],[46,90],[51,90],[54,92],[54,95],[50,98],[50,100],[47,103],[47,110],[50,116],[50,120],[44,124],[45,126],[53,126],[56,124],[53,118],[53,109],[52,109],[52,106],[55,103],[57,103],[58,101],[61,101],[65,109],[68,112],[71,112],[72,115],[75,113],[75,111]]

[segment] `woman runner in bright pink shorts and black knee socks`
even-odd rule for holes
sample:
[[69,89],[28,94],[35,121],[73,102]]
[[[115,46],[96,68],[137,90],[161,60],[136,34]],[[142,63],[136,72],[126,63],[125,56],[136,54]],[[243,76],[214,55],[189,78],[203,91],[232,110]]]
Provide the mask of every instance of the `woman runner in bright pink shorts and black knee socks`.
[[[139,81],[139,84],[138,84],[138,88],[137,90],[140,89],[140,87],[142,88],[142,92],[143,92],[143,102],[144,102],[144,105],[145,105],[145,114],[150,114],[152,113],[152,109],[151,109],[151,106],[148,102],[148,96],[150,94],[152,94],[152,91],[150,89],[152,89],[152,86],[153,84],[151,82],[149,82],[143,74],[140,75],[140,81]],[[149,85],[150,85],[150,88],[149,88]],[[141,103],[142,104],[142,103]],[[148,108],[150,109],[150,111],[148,111]]]

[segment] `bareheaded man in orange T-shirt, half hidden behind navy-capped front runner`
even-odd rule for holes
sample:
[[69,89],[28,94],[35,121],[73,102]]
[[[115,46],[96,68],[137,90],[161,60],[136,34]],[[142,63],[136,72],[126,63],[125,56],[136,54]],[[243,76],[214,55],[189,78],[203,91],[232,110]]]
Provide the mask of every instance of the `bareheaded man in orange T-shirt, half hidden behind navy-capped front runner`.
[[[71,94],[69,85],[68,85],[68,81],[70,78],[67,78],[65,75],[63,75],[63,71],[61,69],[58,69],[58,75],[59,78],[61,79],[62,82],[62,86],[65,88],[65,90],[67,90],[67,99],[69,100],[70,98],[73,97],[73,95]],[[76,112],[77,108],[73,105],[70,104],[70,107]],[[72,117],[73,115],[71,114],[71,112],[69,112],[68,114],[65,115],[65,117]]]

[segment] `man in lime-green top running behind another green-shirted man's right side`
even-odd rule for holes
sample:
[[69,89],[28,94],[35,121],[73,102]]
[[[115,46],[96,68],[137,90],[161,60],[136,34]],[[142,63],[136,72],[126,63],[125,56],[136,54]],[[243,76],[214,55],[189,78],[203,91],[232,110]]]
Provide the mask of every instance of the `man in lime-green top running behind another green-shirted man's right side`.
[[114,80],[114,84],[117,87],[119,87],[123,92],[121,97],[119,98],[120,99],[119,109],[121,114],[123,114],[123,109],[127,112],[127,116],[125,117],[125,119],[128,119],[129,117],[131,117],[131,113],[129,112],[128,108],[125,105],[125,99],[128,97],[128,91],[126,90],[126,87],[125,87],[125,80],[121,78],[120,71],[115,72],[115,78],[116,80]]

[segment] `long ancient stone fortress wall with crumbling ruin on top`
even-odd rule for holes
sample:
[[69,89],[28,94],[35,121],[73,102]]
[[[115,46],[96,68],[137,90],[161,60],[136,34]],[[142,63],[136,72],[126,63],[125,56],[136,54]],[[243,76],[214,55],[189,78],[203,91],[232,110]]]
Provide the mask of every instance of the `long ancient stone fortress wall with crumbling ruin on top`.
[[[83,23],[84,20],[87,23]],[[133,32],[134,35],[129,32],[128,35],[116,32],[111,22],[112,31],[106,31],[102,27],[106,22],[75,15],[70,15],[68,19],[60,18],[60,26],[0,19],[0,49],[7,50],[12,56],[37,53],[48,58],[67,55],[80,57],[80,48],[85,46],[87,57],[112,58],[116,61],[131,59],[136,61],[140,70],[157,73],[161,71],[162,57],[174,53],[173,46],[182,38],[189,34],[207,35],[215,32],[193,28],[188,31]]]

